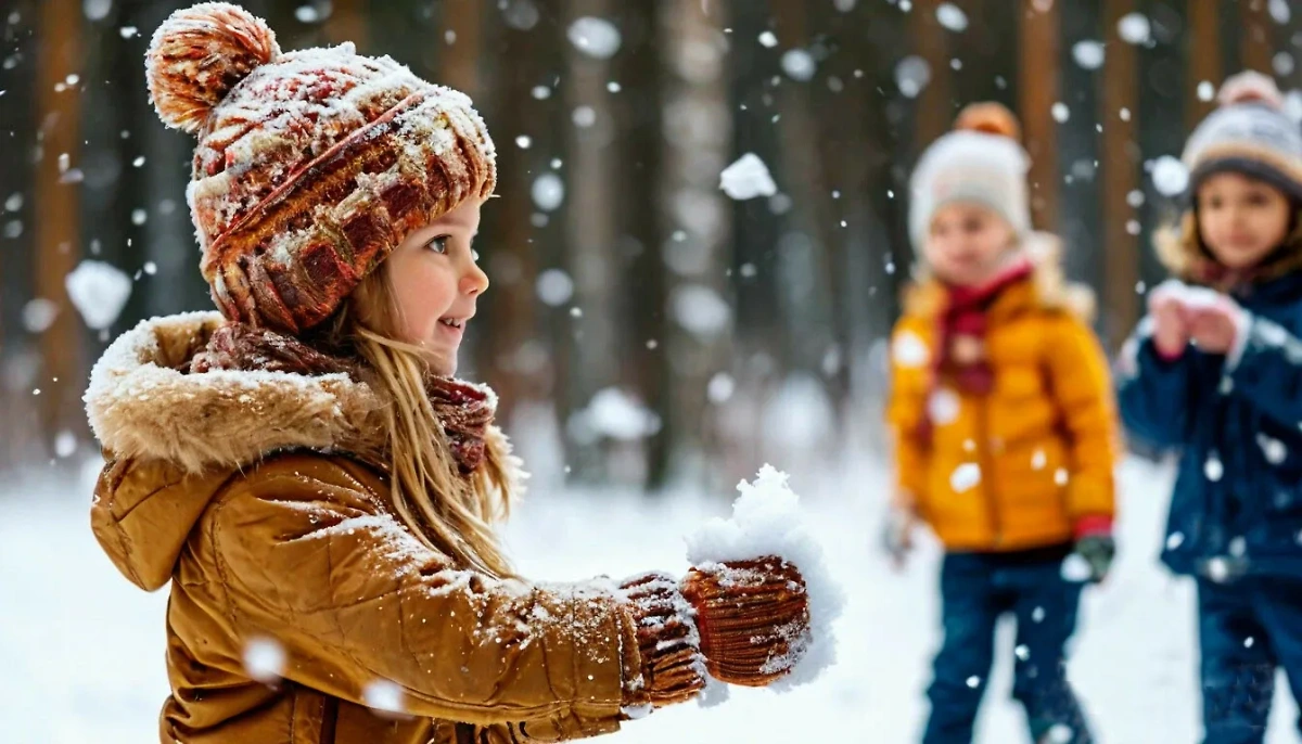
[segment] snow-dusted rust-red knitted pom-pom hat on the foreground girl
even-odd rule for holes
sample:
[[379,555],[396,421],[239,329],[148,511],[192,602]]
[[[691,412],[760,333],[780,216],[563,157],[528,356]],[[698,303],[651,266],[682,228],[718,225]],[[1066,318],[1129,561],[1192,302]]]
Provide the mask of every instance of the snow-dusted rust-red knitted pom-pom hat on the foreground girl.
[[186,198],[232,320],[311,328],[406,234],[496,182],[464,94],[348,43],[281,53],[236,5],[173,13],[146,72],[163,122],[199,139]]

